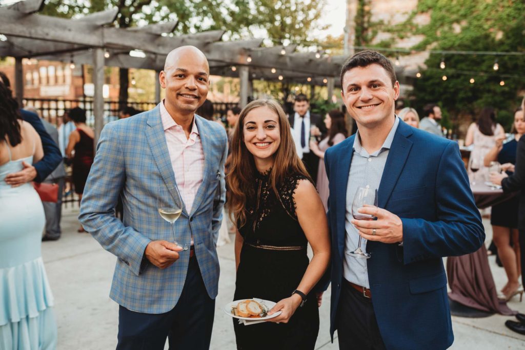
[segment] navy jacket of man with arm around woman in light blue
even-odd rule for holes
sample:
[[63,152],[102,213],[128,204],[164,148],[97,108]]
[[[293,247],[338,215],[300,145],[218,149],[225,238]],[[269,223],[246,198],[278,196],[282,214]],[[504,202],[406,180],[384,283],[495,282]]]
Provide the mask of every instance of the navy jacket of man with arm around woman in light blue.
[[33,165],[37,173],[34,181],[42,182],[51,172],[53,172],[53,170],[55,170],[56,167],[58,167],[62,161],[62,154],[60,153],[60,149],[58,148],[55,141],[53,141],[51,136],[49,136],[49,134],[46,132],[46,128],[44,127],[44,124],[38,115],[25,110],[20,110],[20,114],[22,115],[24,121],[31,124],[35,128],[38,135],[40,135],[40,139],[42,140],[44,158],[40,159]]

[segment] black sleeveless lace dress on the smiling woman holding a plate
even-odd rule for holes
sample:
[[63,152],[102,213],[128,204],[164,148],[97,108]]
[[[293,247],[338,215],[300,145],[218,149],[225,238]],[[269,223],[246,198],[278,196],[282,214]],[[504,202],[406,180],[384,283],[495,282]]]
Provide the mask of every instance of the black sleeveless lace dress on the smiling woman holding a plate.
[[[308,240],[297,220],[293,192],[301,175],[288,177],[279,186],[279,196],[268,183],[268,174],[258,174],[254,198],[248,198],[246,224],[239,228],[244,238],[235,282],[234,300],[260,298],[278,302],[299,286],[309,259]],[[234,319],[237,348],[313,349],[319,333],[319,309],[313,292],[290,321],[245,326]]]

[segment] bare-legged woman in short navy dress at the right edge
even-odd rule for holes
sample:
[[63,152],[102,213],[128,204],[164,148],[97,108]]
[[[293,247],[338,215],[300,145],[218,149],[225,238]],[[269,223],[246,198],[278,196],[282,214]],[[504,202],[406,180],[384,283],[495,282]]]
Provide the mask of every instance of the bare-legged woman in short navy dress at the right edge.
[[[491,161],[497,160],[502,164],[501,168],[507,171],[508,175],[514,171],[518,140],[525,134],[525,121],[521,107],[514,113],[512,131],[514,138],[505,144],[503,144],[505,134],[496,137],[495,145],[485,156],[486,167],[490,166]],[[492,239],[498,248],[498,256],[508,279],[505,287],[501,290],[502,299],[505,300],[509,300],[518,293],[523,293],[523,287],[520,286],[518,280],[521,274],[518,209],[518,196],[515,196],[505,202],[493,205],[490,215]]]

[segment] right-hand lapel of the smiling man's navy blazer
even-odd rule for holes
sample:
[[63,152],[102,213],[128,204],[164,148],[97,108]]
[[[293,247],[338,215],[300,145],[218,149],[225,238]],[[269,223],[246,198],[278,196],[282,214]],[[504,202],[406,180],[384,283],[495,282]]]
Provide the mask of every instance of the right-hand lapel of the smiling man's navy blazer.
[[400,121],[397,126],[390,152],[388,152],[388,158],[386,159],[385,168],[383,170],[383,176],[381,177],[381,183],[379,185],[379,191],[377,191],[379,207],[384,208],[392,190],[394,189],[397,179],[400,177],[403,167],[405,166],[406,159],[412,148],[412,141],[407,137],[412,135],[411,127],[404,122]]

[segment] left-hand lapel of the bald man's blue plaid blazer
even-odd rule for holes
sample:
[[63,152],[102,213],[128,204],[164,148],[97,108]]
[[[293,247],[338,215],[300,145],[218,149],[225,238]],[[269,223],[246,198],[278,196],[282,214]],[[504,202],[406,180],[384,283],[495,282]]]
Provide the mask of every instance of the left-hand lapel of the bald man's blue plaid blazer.
[[153,108],[150,112],[148,125],[150,127],[146,130],[146,139],[148,139],[153,159],[155,160],[157,168],[159,168],[166,187],[170,189],[170,193],[175,200],[175,203],[182,207],[182,211],[187,215],[186,207],[184,206],[184,203],[182,203],[177,188],[177,182],[175,181],[175,173],[173,172],[173,166],[171,165],[170,152],[167,149],[159,105]]

